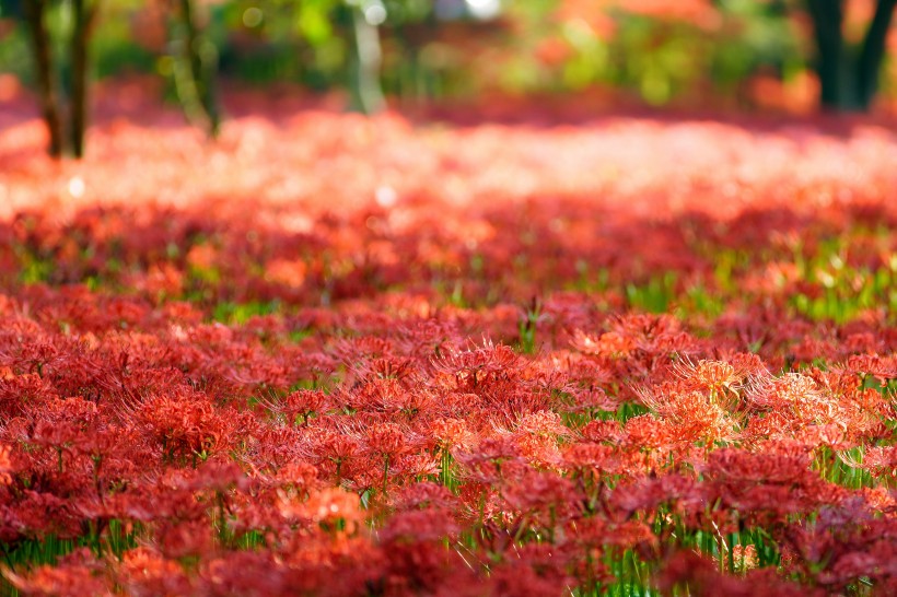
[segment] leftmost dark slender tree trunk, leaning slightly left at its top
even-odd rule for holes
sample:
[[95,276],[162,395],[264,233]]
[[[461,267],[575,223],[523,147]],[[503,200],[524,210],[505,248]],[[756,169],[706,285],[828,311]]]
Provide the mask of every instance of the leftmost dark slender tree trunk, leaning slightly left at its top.
[[62,155],[62,120],[59,115],[59,98],[53,70],[53,48],[46,23],[46,0],[25,0],[24,14],[31,32],[34,63],[37,70],[37,92],[40,95],[40,112],[49,131],[49,154]]

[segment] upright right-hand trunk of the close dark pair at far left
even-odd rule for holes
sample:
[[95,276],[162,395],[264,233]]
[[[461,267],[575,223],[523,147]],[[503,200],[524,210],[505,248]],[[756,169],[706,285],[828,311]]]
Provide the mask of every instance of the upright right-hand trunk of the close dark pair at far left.
[[88,121],[89,44],[96,14],[90,0],[72,0],[73,31],[71,36],[71,151],[75,157],[84,155],[84,131]]

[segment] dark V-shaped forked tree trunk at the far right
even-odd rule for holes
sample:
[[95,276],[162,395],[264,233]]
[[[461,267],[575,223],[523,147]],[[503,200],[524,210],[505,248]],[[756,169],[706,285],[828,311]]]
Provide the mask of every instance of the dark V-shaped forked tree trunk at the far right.
[[897,0],[877,0],[859,47],[844,39],[844,0],[806,0],[816,43],[820,102],[829,109],[869,109],[878,89]]

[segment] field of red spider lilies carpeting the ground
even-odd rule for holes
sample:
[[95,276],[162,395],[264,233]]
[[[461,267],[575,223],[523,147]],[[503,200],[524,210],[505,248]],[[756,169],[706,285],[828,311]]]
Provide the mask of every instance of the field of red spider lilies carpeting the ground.
[[3,122],[4,590],[897,593],[894,130],[256,99]]

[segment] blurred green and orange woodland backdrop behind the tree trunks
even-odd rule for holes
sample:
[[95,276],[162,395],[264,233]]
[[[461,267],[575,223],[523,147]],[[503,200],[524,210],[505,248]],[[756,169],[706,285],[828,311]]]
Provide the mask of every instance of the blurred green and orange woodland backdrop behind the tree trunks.
[[[71,0],[67,0],[70,2]],[[48,25],[63,33],[67,1]],[[0,2],[0,71],[34,84],[23,0]],[[807,5],[790,0],[210,0],[195,1],[201,43],[222,78],[293,83],[351,95],[357,31],[364,16],[382,54],[392,105],[582,94],[593,102],[809,113],[818,105]],[[838,3],[838,2],[835,2]],[[115,0],[100,7],[92,75],[153,75],[175,101],[176,2]],[[843,5],[859,43],[875,2]],[[60,36],[61,37],[61,36]],[[174,40],[173,40],[174,39]],[[892,31],[888,48],[897,44]],[[57,48],[65,52],[65,47]],[[65,67],[63,67],[65,69]],[[897,85],[885,62],[875,109]],[[65,79],[66,73],[62,73]]]

